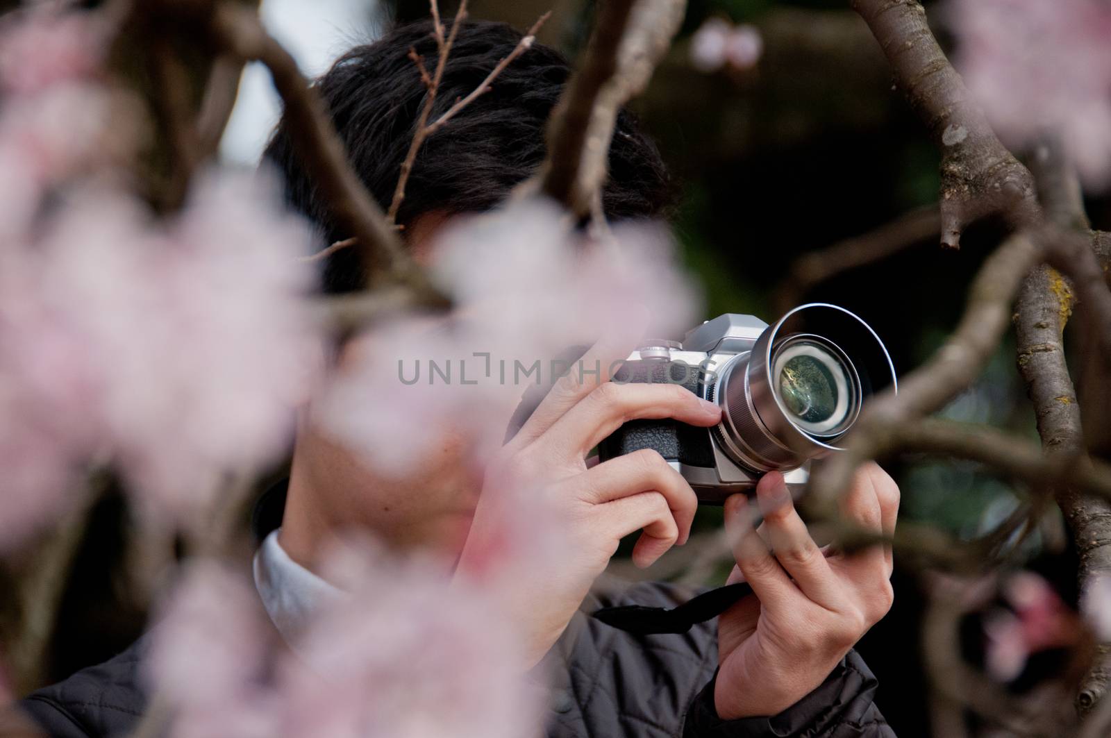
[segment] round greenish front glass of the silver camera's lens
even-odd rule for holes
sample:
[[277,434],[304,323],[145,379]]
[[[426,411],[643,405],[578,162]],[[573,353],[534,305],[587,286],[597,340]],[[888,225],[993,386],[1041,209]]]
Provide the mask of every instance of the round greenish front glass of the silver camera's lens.
[[775,356],[775,389],[791,420],[815,436],[837,435],[854,406],[842,360],[813,341],[792,341]]

